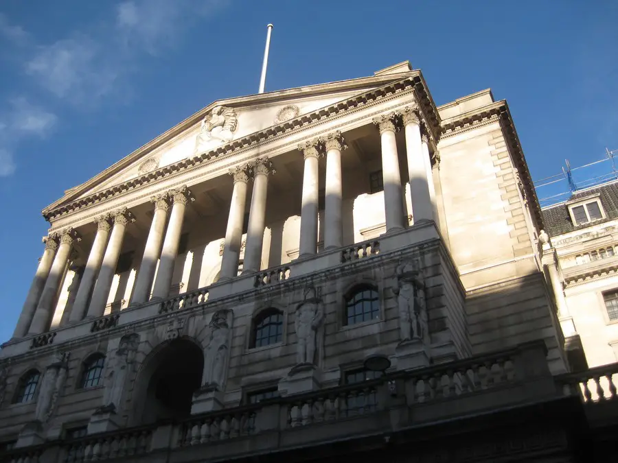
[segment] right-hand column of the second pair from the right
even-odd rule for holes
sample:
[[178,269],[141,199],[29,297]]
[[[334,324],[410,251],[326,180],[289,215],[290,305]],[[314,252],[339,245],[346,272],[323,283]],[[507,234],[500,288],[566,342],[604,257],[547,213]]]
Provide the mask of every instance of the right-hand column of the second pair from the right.
[[341,151],[345,150],[347,145],[341,132],[328,134],[324,144],[326,150],[324,249],[334,249],[343,246]]

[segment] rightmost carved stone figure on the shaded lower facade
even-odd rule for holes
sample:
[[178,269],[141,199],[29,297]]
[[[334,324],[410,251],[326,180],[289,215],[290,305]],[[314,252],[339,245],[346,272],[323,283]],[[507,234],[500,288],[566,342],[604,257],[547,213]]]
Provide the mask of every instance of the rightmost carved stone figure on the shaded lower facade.
[[396,270],[399,333],[402,342],[422,340],[427,331],[425,285],[417,261],[400,263]]

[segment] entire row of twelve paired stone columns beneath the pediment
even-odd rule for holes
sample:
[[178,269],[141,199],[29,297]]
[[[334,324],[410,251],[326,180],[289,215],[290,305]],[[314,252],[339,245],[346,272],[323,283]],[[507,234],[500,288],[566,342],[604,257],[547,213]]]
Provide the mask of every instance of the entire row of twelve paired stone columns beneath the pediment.
[[[435,220],[437,218],[435,191],[428,137],[422,133],[422,122],[417,108],[411,106],[404,108],[402,112],[376,117],[373,123],[380,133],[387,233],[403,230],[406,226],[395,135],[400,125],[403,126],[405,132],[414,220],[416,223],[423,220]],[[298,146],[304,156],[299,237],[299,258],[301,259],[317,254],[319,158],[321,156],[326,156],[324,248],[330,250],[343,246],[341,152],[346,147],[341,132],[325,134],[325,136],[306,141]],[[238,272],[244,211],[251,179],[253,179],[253,193],[249,209],[243,273],[260,270],[266,226],[268,178],[274,173],[273,164],[265,156],[229,171],[233,178],[233,193],[225,233],[220,270],[221,281],[233,278]],[[194,200],[193,195],[187,187],[172,189],[151,198],[154,215],[144,255],[137,272],[131,305],[139,305],[148,301],[150,289],[153,288],[157,261],[159,261],[159,268],[152,289],[152,298],[168,297],[172,285],[174,263],[179,250],[185,209],[187,203],[192,200]],[[126,208],[95,218],[97,232],[71,309],[69,323],[79,322],[84,316],[97,318],[104,314],[126,228],[134,221],[133,214]],[[69,263],[71,248],[74,241],[79,239],[78,233],[73,228],[65,230],[61,235],[52,234],[47,237],[43,257],[36,270],[13,337],[38,335],[49,329],[54,315],[56,294],[58,294],[62,276]]]

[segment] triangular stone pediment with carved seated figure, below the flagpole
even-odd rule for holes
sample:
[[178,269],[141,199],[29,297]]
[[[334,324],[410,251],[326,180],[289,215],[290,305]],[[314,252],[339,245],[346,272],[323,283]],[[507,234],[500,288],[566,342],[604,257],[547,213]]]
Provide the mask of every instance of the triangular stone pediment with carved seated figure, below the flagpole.
[[43,213],[86,198],[166,165],[216,149],[229,141],[277,126],[321,108],[332,106],[406,78],[415,71],[402,62],[369,78],[291,88],[218,100],[150,141],[91,180],[65,191],[65,196]]

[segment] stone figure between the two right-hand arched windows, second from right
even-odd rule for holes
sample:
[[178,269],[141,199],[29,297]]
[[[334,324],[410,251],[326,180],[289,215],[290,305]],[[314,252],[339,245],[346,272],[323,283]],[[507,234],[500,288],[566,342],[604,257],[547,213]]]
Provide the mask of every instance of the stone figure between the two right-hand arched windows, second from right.
[[297,365],[315,363],[315,353],[320,345],[319,329],[324,321],[324,309],[319,292],[306,287],[304,301],[296,309],[296,362]]

